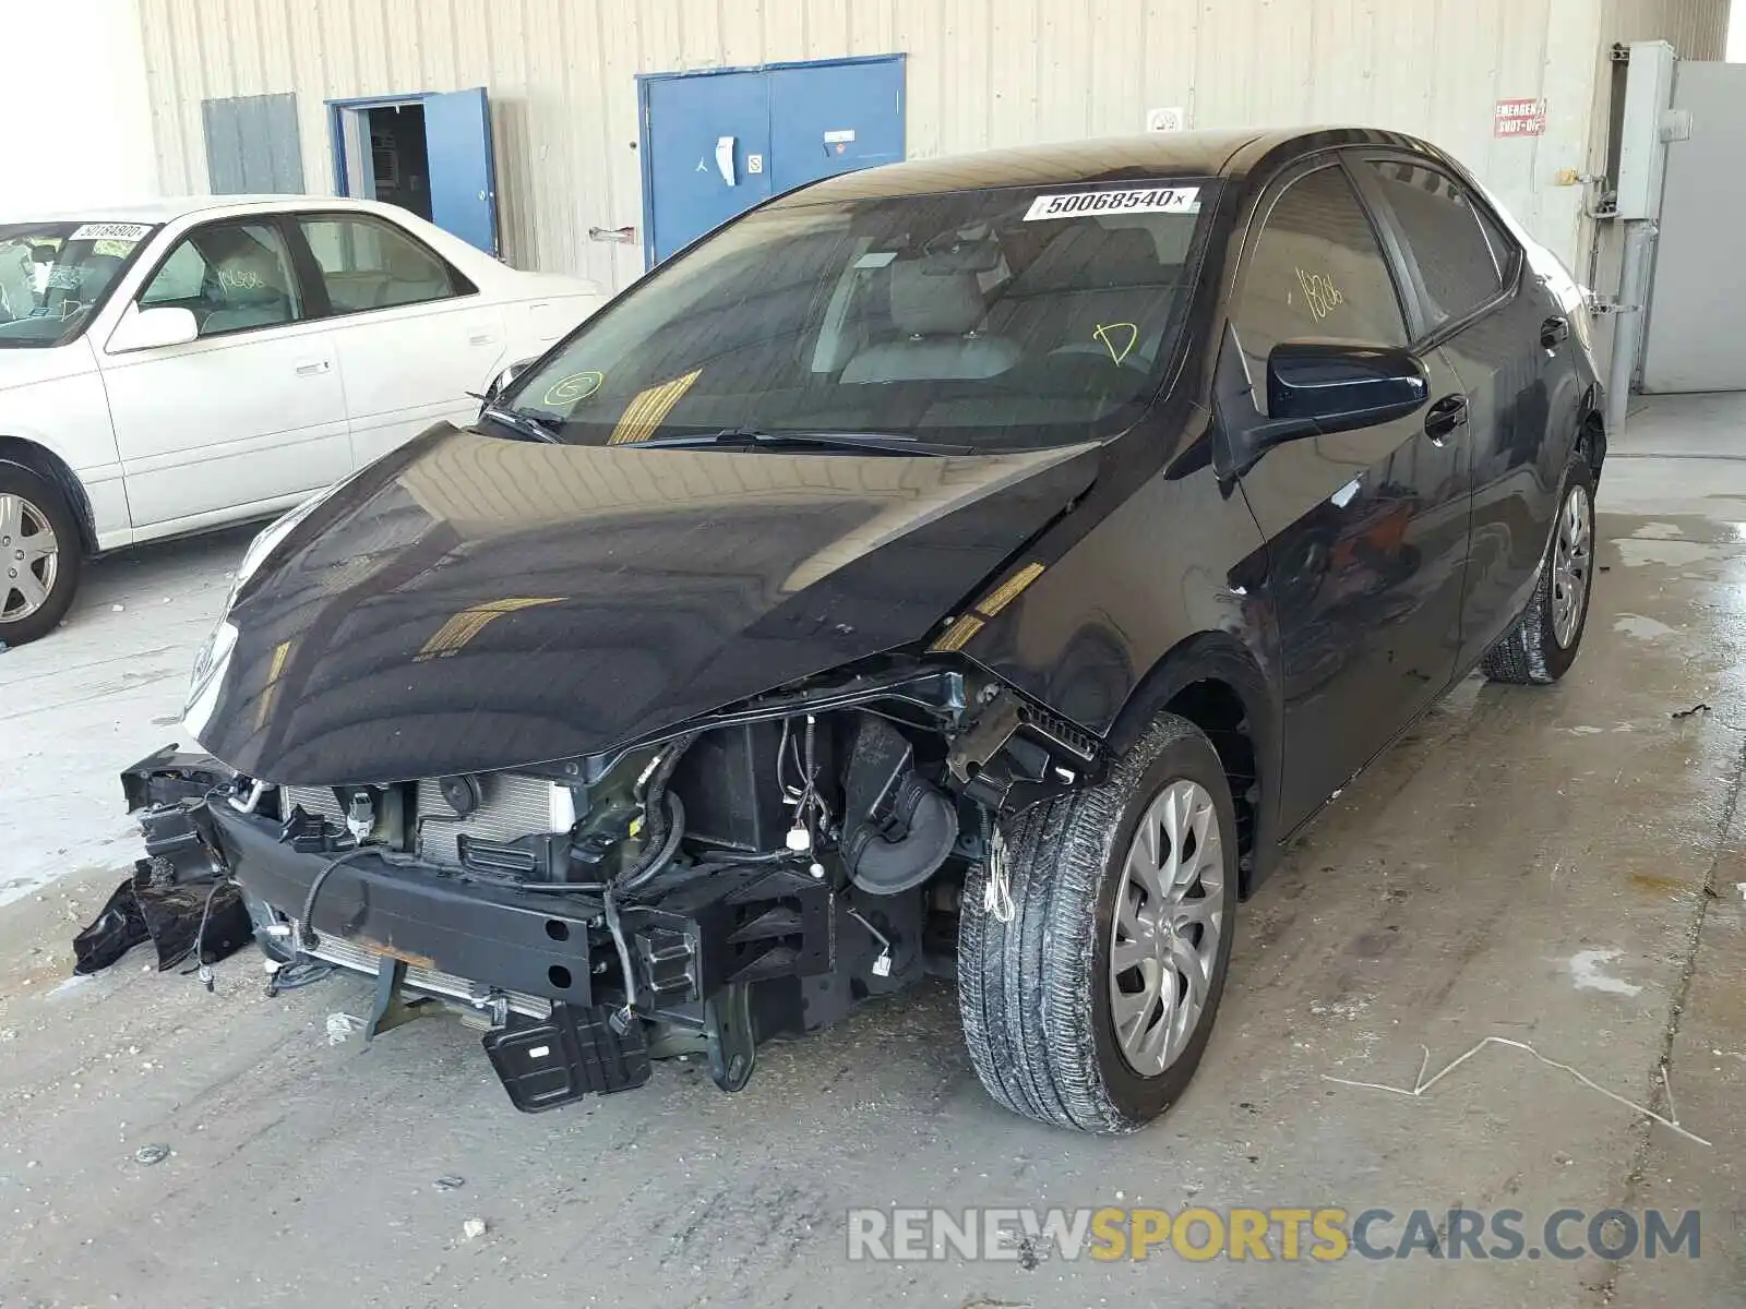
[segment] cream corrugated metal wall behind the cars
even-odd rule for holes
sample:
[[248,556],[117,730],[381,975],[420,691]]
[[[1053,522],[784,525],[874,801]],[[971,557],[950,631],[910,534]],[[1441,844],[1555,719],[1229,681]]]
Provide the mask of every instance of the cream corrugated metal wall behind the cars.
[[[1725,0],[140,3],[166,190],[206,185],[201,101],[211,96],[295,91],[304,176],[330,188],[323,99],[487,86],[505,255],[615,286],[641,272],[641,246],[587,232],[627,223],[641,232],[636,73],[885,52],[910,56],[911,159],[1140,131],[1147,108],[1173,105],[1198,127],[1379,124],[1453,150],[1573,257],[1584,244],[1580,197],[1557,194],[1549,178],[1585,164],[1603,28],[1673,24],[1695,47],[1720,42],[1722,24],[1706,14],[1725,9]],[[1547,134],[1496,140],[1495,101],[1519,96],[1549,98]]]

